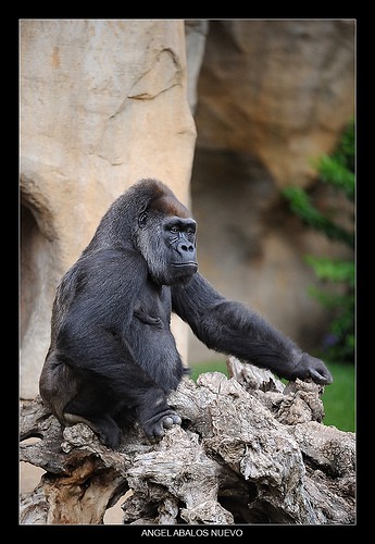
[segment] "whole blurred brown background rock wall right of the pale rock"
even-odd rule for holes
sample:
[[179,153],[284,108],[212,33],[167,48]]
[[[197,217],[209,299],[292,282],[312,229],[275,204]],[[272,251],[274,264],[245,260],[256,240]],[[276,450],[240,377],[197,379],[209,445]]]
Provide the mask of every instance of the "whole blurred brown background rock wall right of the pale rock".
[[[228,298],[316,349],[328,314],[307,294],[305,254],[342,257],[301,226],[280,196],[313,188],[312,160],[329,153],[354,113],[353,21],[210,21],[198,81],[191,178],[201,272]],[[345,199],[317,187],[333,218]],[[190,361],[223,357],[192,335]]]

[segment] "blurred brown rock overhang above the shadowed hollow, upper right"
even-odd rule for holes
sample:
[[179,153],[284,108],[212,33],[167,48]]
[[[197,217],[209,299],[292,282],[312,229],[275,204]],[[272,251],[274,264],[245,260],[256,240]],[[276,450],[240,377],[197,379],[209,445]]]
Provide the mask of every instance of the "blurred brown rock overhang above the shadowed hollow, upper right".
[[198,146],[249,153],[275,183],[307,183],[353,113],[352,21],[213,21]]

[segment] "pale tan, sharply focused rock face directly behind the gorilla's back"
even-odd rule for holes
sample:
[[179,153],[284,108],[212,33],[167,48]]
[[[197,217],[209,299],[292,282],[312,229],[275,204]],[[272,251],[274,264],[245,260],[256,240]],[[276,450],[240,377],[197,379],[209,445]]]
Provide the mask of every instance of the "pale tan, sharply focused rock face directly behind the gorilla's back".
[[23,21],[21,116],[22,396],[32,398],[54,288],[111,202],[157,177],[188,203],[184,22]]

